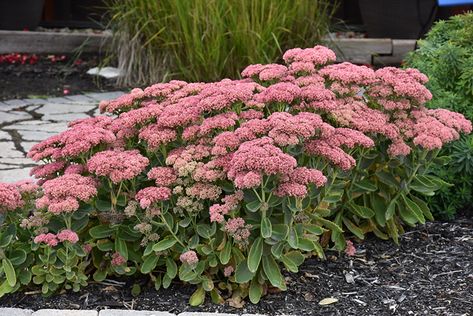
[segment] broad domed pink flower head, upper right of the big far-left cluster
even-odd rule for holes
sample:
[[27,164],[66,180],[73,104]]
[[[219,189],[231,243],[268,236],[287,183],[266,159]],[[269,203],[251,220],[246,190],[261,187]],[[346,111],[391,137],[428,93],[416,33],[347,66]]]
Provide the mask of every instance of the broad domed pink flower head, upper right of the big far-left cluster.
[[138,150],[106,150],[93,155],[87,162],[87,169],[98,176],[110,178],[113,183],[119,183],[133,179],[148,164],[148,158]]

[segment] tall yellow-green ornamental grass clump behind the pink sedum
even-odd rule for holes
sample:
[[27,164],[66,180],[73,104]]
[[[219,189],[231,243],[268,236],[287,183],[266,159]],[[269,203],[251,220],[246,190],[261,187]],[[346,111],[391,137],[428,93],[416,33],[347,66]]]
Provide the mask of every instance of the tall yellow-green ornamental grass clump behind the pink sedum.
[[313,46],[327,32],[327,0],[110,0],[120,80],[215,81],[248,64],[277,61],[291,47]]

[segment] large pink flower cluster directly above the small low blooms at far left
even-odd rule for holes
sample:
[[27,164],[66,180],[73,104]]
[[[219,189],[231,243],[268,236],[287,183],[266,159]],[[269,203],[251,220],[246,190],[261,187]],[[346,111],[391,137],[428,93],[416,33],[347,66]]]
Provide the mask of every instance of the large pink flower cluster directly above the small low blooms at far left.
[[47,180],[42,185],[43,197],[36,207],[51,213],[69,213],[79,209],[79,201],[89,201],[97,194],[96,181],[78,174],[67,174]]

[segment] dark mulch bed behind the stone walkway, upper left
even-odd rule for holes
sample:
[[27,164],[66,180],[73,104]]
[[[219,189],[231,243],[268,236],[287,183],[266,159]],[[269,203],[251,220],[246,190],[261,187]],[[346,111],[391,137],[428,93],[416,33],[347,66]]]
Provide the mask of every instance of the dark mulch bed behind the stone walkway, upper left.
[[[60,58],[57,55],[56,58]],[[63,61],[39,55],[35,64],[0,63],[0,100],[64,96],[84,92],[117,90],[115,80],[106,80],[86,74],[99,65],[94,54],[77,57],[66,55]]]

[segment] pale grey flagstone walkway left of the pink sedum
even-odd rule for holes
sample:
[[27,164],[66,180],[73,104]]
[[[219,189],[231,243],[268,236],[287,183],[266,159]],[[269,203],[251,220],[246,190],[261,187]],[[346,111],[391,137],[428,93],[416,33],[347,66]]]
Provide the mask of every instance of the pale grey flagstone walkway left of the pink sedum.
[[34,144],[64,131],[72,120],[98,115],[101,100],[122,94],[117,91],[0,102],[0,182],[29,178],[35,163],[26,158],[26,153]]

